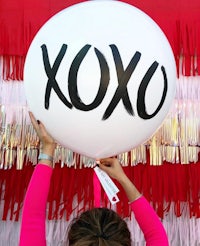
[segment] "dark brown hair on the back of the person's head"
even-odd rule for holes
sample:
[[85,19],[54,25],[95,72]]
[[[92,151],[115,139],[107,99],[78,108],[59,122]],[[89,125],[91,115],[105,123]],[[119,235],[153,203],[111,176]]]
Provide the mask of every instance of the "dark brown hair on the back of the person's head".
[[94,208],[72,221],[68,233],[70,246],[130,246],[126,222],[113,210]]

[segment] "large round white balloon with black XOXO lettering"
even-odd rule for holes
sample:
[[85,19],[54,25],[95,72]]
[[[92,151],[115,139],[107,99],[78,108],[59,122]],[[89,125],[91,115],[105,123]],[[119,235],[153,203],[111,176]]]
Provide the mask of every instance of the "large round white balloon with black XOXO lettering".
[[88,1],[48,20],[24,70],[30,110],[61,145],[92,158],[129,151],[165,119],[175,94],[169,42],[141,10]]

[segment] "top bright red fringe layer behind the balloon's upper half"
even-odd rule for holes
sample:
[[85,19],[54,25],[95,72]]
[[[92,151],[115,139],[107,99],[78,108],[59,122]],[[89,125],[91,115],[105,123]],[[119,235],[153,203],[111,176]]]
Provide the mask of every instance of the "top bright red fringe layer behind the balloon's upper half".
[[[37,31],[54,14],[79,2],[83,0],[1,0],[0,55],[5,59],[3,64],[6,71],[3,74],[5,80],[23,79],[24,59]],[[146,12],[164,31],[174,52],[177,74],[179,72],[186,76],[200,74],[199,0],[160,0],[156,4],[154,0],[124,0],[124,2]],[[9,56],[11,58],[8,58]],[[11,65],[14,73],[10,69]]]

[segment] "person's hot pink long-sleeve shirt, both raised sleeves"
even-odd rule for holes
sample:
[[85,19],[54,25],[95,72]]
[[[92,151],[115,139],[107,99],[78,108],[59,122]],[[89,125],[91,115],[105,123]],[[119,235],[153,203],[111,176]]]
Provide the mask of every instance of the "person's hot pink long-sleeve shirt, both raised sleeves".
[[[19,246],[45,246],[46,203],[53,169],[38,164],[29,183],[22,212]],[[168,246],[166,232],[144,197],[131,203],[147,246]]]

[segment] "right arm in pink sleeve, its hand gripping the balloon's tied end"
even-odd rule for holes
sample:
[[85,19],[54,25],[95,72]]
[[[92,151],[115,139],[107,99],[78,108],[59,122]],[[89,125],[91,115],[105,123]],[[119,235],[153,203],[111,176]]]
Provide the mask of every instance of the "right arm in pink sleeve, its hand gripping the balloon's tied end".
[[100,160],[99,166],[122,185],[130,201],[135,218],[144,233],[146,244],[148,246],[168,246],[167,235],[159,217],[126,176],[119,161],[115,158],[106,158]]

